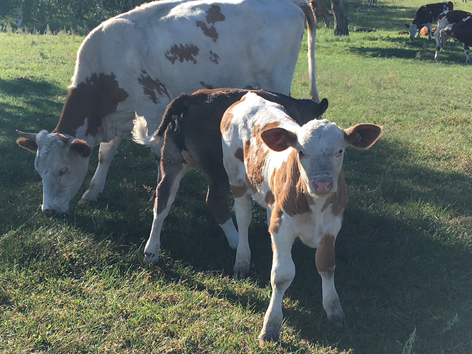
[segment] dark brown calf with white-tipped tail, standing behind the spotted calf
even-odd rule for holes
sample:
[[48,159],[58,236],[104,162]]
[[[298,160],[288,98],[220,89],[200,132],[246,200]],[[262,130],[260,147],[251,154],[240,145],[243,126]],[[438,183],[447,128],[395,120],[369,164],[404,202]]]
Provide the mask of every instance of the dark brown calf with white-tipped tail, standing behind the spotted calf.
[[[133,138],[136,142],[152,146],[160,143],[162,136],[164,137],[160,159],[162,179],[156,189],[151,235],[144,248],[145,261],[158,260],[162,223],[175,200],[180,179],[194,166],[207,176],[208,207],[225,232],[230,246],[237,247],[237,231],[228,207],[230,187],[223,166],[219,125],[228,107],[248,92],[228,88],[204,89],[191,95],[181,94],[169,103],[158,130],[150,137],[147,136],[146,121],[143,118],[135,120]],[[281,105],[286,114],[299,124],[320,117],[328,108],[326,98],[318,104],[313,100],[297,100],[281,93],[261,90],[250,92]],[[247,272],[235,273],[235,276],[246,277],[248,271],[249,268]]]

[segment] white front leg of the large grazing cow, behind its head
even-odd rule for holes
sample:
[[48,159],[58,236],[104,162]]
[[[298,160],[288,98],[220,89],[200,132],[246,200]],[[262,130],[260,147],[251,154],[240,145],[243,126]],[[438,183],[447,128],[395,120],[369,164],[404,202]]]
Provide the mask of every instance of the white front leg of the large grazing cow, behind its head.
[[88,201],[96,201],[98,195],[103,192],[105,186],[105,179],[107,178],[108,169],[110,169],[111,160],[117,153],[118,145],[121,142],[121,137],[117,136],[109,143],[101,143],[98,151],[98,166],[95,174],[90,181],[88,189],[85,191],[82,198],[80,198],[79,205],[85,204]]

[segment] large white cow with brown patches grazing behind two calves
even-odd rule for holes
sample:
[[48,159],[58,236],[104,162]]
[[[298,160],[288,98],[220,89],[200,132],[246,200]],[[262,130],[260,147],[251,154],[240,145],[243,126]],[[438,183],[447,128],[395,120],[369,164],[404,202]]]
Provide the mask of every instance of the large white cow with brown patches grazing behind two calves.
[[97,199],[120,140],[131,136],[135,112],[155,129],[183,92],[261,87],[289,94],[305,17],[317,101],[316,21],[306,0],[161,0],[101,23],[77,51],[56,128],[18,133],[17,143],[36,153],[44,213],[67,211],[87,171],[86,145],[100,144],[99,163],[80,203]]

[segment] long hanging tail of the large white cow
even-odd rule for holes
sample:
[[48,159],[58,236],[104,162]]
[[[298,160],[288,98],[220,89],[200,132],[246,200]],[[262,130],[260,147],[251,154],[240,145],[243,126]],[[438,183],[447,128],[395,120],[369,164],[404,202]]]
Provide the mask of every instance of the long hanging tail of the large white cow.
[[316,17],[313,1],[291,0],[295,5],[302,9],[306,17],[306,28],[308,34],[308,75],[310,76],[310,96],[319,102],[318,90],[316,89],[315,77],[315,39],[316,39]]

